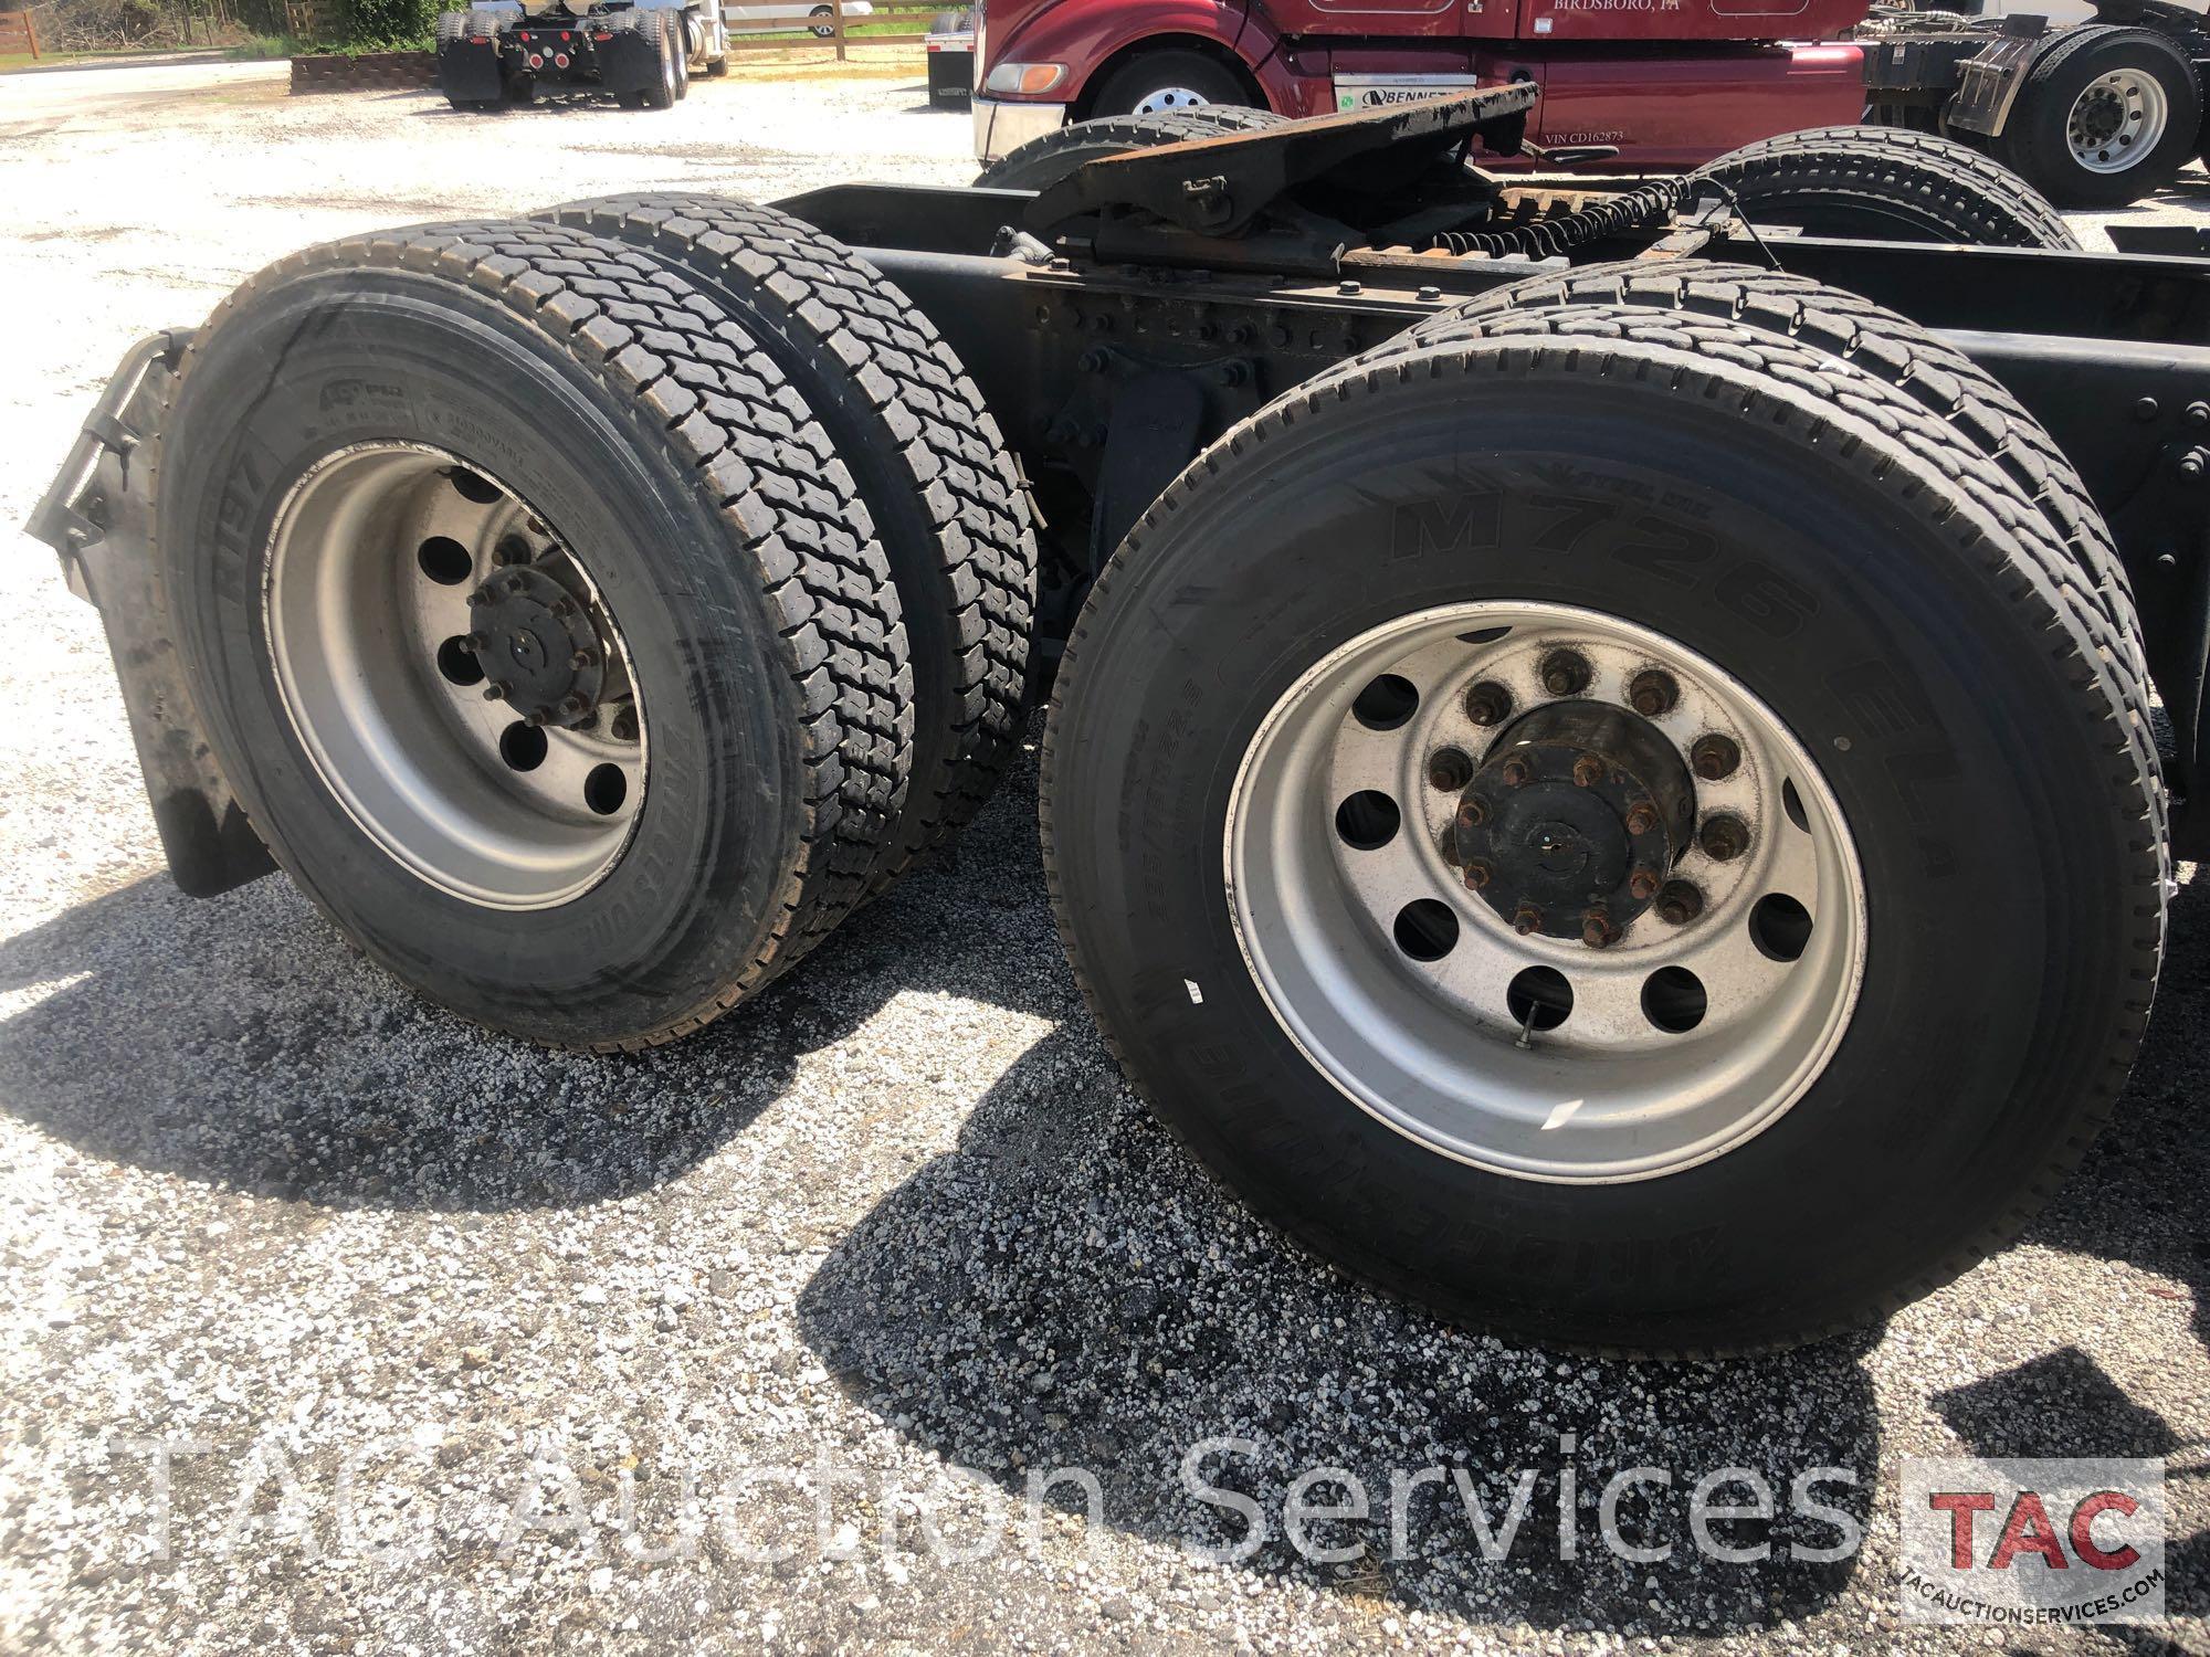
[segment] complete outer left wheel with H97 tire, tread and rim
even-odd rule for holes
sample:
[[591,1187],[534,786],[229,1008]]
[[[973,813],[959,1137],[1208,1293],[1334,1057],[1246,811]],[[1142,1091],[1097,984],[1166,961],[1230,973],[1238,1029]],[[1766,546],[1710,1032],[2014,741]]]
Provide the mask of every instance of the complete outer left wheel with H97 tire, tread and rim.
[[661,263],[539,223],[285,258],[194,338],[155,466],[239,802],[420,994],[645,1047],[864,897],[911,762],[888,563]]

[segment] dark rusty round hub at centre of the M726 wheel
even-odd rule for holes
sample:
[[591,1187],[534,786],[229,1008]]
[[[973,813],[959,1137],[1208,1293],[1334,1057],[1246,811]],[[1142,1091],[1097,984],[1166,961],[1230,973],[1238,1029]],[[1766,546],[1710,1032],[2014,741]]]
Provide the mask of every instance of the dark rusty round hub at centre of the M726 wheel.
[[1664,733],[1551,703],[1490,747],[1452,820],[1465,884],[1516,932],[1611,943],[1688,844],[1695,787]]

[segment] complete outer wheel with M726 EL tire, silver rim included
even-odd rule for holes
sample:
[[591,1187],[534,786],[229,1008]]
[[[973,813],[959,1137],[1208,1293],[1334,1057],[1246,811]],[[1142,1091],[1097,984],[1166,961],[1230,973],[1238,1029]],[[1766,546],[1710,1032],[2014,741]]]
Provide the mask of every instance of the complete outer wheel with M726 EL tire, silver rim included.
[[[1863,380],[1730,318],[1463,318],[1235,426],[1098,577],[1061,932],[1326,1259],[1543,1341],[1795,1343],[2013,1237],[2111,1111],[2146,685],[2011,479]],[[1613,866],[1646,910],[1534,897]]]

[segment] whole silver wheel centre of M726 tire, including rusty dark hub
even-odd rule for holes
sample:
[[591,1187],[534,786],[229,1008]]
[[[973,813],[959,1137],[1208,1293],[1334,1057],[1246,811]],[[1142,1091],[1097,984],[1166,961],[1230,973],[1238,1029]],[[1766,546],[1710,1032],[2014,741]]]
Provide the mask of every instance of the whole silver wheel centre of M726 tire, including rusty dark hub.
[[1359,1109],[1527,1180],[1673,1173],[1825,1067],[1865,959],[1812,751],[1660,632],[1518,599],[1337,645],[1238,769],[1235,937]]

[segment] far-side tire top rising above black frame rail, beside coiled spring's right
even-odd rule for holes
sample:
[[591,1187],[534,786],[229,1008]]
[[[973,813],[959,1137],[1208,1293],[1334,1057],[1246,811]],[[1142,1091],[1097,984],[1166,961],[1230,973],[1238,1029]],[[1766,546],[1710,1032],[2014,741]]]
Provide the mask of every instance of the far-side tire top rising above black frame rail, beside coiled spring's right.
[[1901,126],[1814,126],[1744,144],[1691,177],[1724,183],[1750,223],[1812,236],[2077,247],[2024,179],[1967,144]]

